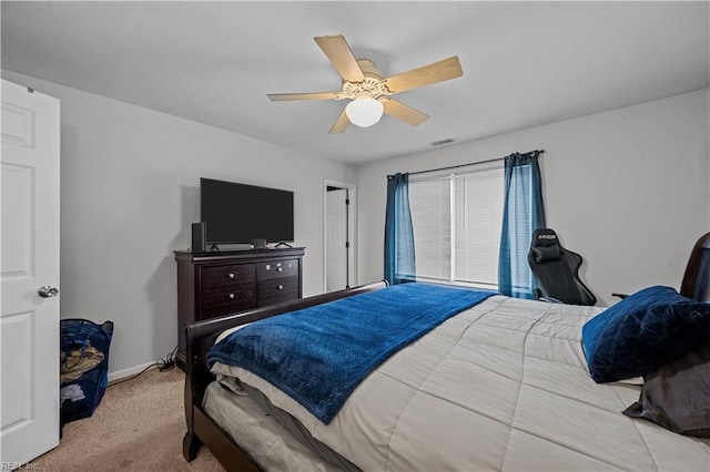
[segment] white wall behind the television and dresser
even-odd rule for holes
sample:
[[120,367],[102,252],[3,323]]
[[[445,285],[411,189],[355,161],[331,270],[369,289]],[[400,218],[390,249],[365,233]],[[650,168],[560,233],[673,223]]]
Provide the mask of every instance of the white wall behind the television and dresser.
[[200,219],[200,177],[295,192],[304,296],[323,291],[323,181],[352,166],[16,73],[61,100],[61,317],[113,320],[110,373],[178,343],[173,249]]

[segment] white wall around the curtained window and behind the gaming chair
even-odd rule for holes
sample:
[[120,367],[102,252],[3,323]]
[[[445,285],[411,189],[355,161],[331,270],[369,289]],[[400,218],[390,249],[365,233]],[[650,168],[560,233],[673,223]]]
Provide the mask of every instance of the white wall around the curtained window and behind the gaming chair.
[[544,148],[547,224],[585,258],[600,305],[612,291],[679,288],[710,230],[709,138],[704,90],[361,166],[359,281],[383,277],[387,174]]

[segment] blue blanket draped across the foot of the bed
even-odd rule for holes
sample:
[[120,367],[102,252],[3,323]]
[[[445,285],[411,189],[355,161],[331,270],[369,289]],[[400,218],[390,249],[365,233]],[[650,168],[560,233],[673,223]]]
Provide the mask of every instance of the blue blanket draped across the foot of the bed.
[[278,387],[328,424],[389,356],[491,291],[403,284],[254,322],[207,353]]

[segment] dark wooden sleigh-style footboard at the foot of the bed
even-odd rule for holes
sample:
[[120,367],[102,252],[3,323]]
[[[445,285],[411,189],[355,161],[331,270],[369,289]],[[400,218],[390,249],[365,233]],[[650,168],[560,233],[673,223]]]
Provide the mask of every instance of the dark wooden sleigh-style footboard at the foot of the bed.
[[366,291],[378,290],[386,286],[387,283],[378,281],[346,290],[257,308],[236,315],[185,324],[185,420],[187,423],[187,432],[185,433],[182,444],[185,459],[189,462],[192,461],[197,455],[200,448],[206,445],[227,471],[262,470],[248,453],[236,444],[202,409],[204,391],[210,382],[214,380],[214,376],[210,373],[206,366],[207,351],[214,345],[220,332],[235,326],[326,304]]

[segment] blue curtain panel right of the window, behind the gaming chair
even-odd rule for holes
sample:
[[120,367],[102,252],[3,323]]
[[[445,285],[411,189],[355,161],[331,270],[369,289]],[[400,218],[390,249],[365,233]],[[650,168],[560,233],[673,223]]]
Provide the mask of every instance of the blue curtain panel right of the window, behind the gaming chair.
[[505,160],[498,290],[509,297],[535,298],[535,277],[528,265],[528,250],[532,232],[546,226],[539,154],[539,151],[515,153]]

